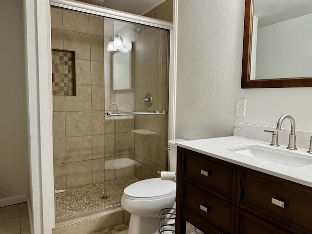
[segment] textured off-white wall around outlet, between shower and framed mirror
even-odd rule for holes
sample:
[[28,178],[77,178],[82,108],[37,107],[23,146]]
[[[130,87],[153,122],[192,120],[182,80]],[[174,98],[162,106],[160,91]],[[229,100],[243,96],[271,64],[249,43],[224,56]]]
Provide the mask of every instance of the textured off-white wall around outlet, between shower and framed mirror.
[[[176,138],[232,136],[235,121],[274,127],[283,114],[312,131],[312,88],[240,89],[244,5],[179,0]],[[246,98],[246,117],[235,117],[236,98]]]

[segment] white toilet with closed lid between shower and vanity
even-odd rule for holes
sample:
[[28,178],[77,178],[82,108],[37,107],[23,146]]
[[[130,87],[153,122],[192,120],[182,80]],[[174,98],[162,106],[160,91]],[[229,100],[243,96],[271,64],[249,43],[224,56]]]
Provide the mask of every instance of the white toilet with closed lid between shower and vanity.
[[[169,171],[176,172],[176,142],[169,140]],[[121,206],[131,214],[128,234],[158,234],[159,212],[173,207],[176,201],[176,181],[158,178],[144,179],[126,187]]]

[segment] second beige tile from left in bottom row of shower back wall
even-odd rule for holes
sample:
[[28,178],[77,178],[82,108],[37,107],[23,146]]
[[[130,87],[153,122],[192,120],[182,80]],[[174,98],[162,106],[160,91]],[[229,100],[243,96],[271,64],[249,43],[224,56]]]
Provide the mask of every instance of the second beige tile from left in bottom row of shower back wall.
[[92,183],[92,160],[66,164],[67,188]]

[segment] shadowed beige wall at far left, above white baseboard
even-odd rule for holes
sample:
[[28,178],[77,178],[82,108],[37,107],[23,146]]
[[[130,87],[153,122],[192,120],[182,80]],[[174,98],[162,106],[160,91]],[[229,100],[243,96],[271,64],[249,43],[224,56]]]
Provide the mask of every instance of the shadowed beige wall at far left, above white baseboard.
[[0,199],[28,193],[23,12],[20,0],[0,9]]

